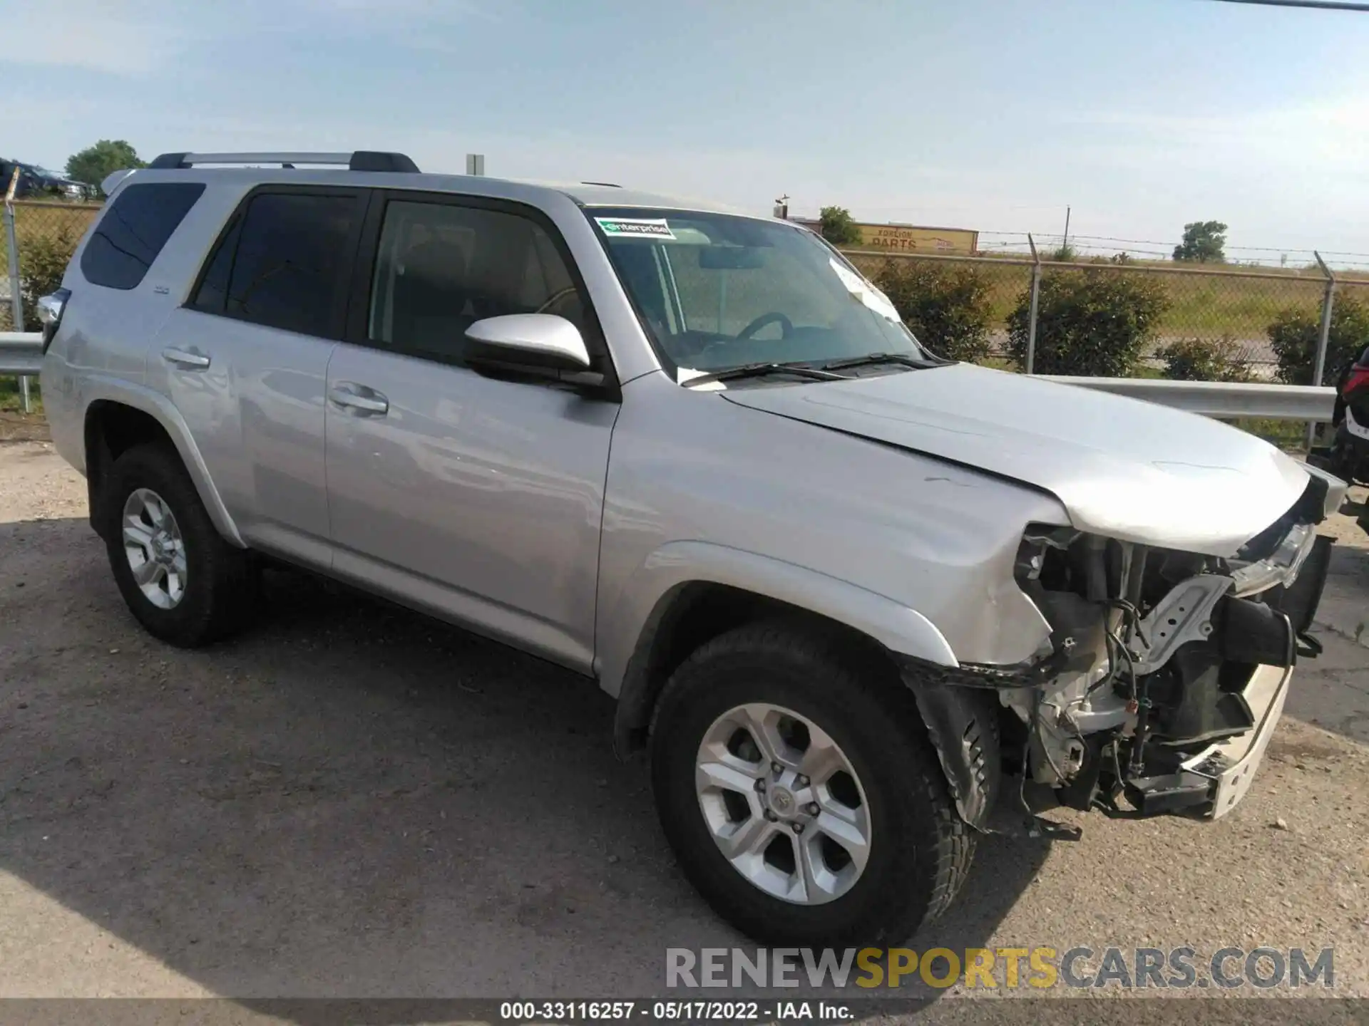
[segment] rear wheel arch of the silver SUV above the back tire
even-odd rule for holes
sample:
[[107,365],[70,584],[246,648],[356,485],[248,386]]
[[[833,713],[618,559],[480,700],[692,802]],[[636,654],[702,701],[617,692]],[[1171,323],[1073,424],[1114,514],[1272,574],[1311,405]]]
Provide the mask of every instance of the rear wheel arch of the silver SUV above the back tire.
[[97,532],[101,529],[103,490],[114,461],[134,445],[168,442],[190,475],[214,527],[230,544],[245,549],[237,524],[223,505],[200,447],[179,410],[164,395],[127,382],[101,380],[92,391],[96,394],[86,401],[82,421],[92,527]]

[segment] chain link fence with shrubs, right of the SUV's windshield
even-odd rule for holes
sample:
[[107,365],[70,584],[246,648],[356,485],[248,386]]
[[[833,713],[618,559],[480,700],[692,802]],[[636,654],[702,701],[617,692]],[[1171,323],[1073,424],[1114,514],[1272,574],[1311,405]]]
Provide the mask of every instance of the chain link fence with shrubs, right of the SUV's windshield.
[[847,257],[934,350],[1003,369],[1310,384],[1322,352],[1320,383],[1333,384],[1369,346],[1369,280],[1320,267]]

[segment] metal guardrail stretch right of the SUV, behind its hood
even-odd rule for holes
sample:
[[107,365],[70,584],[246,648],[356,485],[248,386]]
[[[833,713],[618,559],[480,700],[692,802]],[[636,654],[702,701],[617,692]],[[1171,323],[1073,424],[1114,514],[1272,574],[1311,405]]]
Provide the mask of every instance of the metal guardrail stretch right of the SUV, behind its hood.
[[1134,399],[1202,413],[1207,417],[1327,421],[1336,390],[1312,384],[1246,384],[1243,382],[1172,382],[1158,378],[1065,378],[1038,375],[1051,382],[1098,389]]

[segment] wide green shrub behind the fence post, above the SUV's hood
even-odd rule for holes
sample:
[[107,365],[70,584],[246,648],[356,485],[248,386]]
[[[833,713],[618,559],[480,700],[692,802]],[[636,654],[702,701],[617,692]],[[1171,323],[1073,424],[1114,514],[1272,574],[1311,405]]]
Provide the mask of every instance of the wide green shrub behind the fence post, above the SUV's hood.
[[[1127,378],[1169,308],[1162,282],[1114,271],[1047,271],[1036,315],[1036,373]],[[1008,315],[1008,350],[1027,367],[1031,289]]]

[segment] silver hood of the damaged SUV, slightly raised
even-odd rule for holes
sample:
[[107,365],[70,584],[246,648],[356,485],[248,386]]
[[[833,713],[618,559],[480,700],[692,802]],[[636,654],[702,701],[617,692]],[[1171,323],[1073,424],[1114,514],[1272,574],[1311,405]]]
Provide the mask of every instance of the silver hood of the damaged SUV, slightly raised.
[[972,364],[723,395],[1010,477],[1080,531],[1165,549],[1233,555],[1307,486],[1296,460],[1220,421]]

